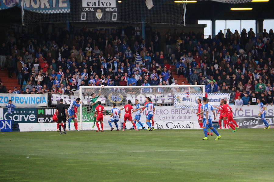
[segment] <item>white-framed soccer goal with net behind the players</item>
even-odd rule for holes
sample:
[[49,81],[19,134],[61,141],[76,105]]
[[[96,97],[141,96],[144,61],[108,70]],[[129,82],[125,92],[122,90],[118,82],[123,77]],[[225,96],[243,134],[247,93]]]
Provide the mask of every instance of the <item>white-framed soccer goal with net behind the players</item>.
[[[204,85],[173,85],[173,86],[80,86],[78,91],[74,91],[82,104],[79,108],[79,122],[81,130],[95,130],[92,128],[94,118],[94,108],[91,103],[99,100],[107,111],[111,111],[112,104],[116,103],[116,108],[122,108],[128,100],[132,101],[135,108],[135,99],[138,99],[140,106],[144,106],[146,97],[151,98],[155,106],[154,128],[155,129],[185,129],[198,128],[196,112],[198,112],[197,99],[205,96]],[[123,123],[124,110],[121,112],[120,122]],[[134,119],[135,113],[132,114]],[[110,115],[104,117],[104,129],[111,129],[107,123]],[[145,124],[146,110],[141,113],[141,123]],[[119,126],[120,123],[118,123]],[[130,128],[132,124],[126,123]],[[136,124],[137,127],[138,124]]]

